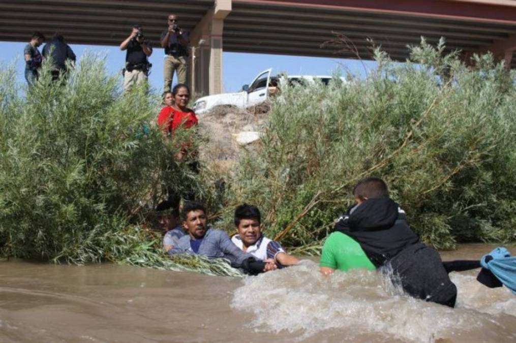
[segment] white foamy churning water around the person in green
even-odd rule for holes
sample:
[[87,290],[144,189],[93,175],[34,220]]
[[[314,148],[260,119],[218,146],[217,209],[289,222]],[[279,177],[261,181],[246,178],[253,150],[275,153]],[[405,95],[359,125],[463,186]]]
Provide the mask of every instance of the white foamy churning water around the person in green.
[[286,330],[299,340],[324,337],[324,332],[354,341],[367,341],[367,335],[425,342],[516,339],[516,297],[510,291],[482,286],[473,274],[450,276],[459,289],[456,308],[400,295],[377,272],[322,276],[314,262],[305,260],[247,277],[235,290],[232,307],[253,313],[250,325],[257,331]]

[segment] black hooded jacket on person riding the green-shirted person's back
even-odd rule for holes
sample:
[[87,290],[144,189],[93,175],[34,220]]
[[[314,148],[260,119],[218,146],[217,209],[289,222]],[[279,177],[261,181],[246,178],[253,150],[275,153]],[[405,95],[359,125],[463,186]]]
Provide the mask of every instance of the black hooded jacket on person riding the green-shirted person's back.
[[368,199],[350,208],[335,224],[335,231],[359,242],[376,267],[420,242],[410,230],[405,212],[390,198]]

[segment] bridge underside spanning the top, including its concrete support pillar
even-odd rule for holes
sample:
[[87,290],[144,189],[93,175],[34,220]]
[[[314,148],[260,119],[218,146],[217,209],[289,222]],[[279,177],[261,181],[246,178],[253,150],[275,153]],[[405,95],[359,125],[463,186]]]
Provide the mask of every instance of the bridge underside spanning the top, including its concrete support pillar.
[[[510,0],[3,0],[0,40],[28,41],[39,30],[74,44],[119,45],[138,23],[158,46],[169,13],[191,32],[189,82],[205,94],[222,91],[222,49],[371,59],[373,40],[403,61],[407,44],[445,37],[448,51],[491,51],[516,66]],[[348,48],[327,43],[336,34]]]

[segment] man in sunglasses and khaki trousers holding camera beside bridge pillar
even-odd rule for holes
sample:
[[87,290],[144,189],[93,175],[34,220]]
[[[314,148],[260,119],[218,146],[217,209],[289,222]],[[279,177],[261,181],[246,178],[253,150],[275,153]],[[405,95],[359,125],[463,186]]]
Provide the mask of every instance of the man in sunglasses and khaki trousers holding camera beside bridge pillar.
[[174,71],[178,73],[178,83],[186,84],[186,58],[188,57],[188,31],[178,25],[175,14],[168,16],[168,29],[163,31],[161,46],[165,48],[165,62],[163,66],[164,92],[172,87]]

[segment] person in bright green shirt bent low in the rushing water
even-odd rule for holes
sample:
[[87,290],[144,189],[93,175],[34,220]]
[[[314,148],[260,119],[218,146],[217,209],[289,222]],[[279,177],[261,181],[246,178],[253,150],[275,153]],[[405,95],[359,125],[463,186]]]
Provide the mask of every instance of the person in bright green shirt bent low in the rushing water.
[[360,244],[342,232],[334,232],[326,239],[322,247],[319,267],[320,272],[325,275],[329,275],[337,269],[342,271],[358,268],[376,269]]

